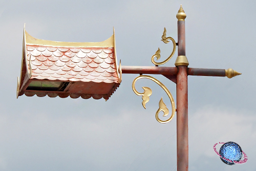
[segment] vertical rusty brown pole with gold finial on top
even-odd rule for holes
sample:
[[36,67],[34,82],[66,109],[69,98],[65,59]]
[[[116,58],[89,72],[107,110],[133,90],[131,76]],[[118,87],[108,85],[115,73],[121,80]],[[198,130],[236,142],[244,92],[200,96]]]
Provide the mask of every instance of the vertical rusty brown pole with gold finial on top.
[[185,50],[185,18],[182,6],[176,15],[178,19],[178,57],[175,65],[177,74],[177,170],[188,170],[188,108],[187,108],[187,66]]

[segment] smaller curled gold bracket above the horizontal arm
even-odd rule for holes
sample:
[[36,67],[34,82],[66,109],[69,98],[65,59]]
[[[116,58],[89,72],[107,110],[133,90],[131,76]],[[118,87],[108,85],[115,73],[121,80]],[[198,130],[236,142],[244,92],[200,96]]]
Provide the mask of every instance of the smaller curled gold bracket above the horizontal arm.
[[164,28],[163,35],[162,35],[162,41],[163,41],[164,43],[169,43],[168,40],[172,40],[173,45],[174,45],[172,54],[170,54],[170,56],[169,56],[166,60],[164,60],[163,62],[155,62],[155,61],[154,61],[154,58],[155,58],[155,57],[157,58],[157,60],[159,60],[159,59],[161,58],[161,55],[160,55],[160,48],[158,48],[156,54],[153,55],[152,58],[151,58],[152,63],[154,63],[155,65],[162,65],[162,64],[165,64],[166,62],[168,62],[168,61],[170,60],[170,58],[172,58],[172,57],[174,56],[174,53],[175,53],[175,51],[176,51],[176,42],[175,42],[175,40],[174,40],[172,37],[166,37],[166,29]]

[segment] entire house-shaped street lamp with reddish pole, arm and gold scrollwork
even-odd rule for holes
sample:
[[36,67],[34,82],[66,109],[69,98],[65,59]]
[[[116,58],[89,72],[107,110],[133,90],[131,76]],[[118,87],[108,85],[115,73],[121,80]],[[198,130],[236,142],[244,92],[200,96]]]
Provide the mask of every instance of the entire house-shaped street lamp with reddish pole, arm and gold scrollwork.
[[[23,94],[27,96],[72,97],[83,99],[108,100],[121,83],[122,74],[139,74],[132,83],[133,91],[142,96],[142,105],[145,108],[150,100],[152,90],[142,87],[140,93],[135,88],[139,79],[150,79],[156,82],[167,93],[172,104],[172,114],[166,120],[161,120],[158,115],[163,111],[164,116],[169,110],[163,100],[159,101],[159,109],[156,119],[159,123],[168,123],[177,112],[177,170],[188,170],[188,92],[187,76],[213,76],[232,78],[241,73],[229,69],[205,69],[188,68],[188,60],[185,51],[185,18],[186,14],[180,6],[176,15],[178,19],[178,42],[172,37],[166,37],[166,29],[162,35],[162,41],[173,43],[173,51],[163,62],[160,59],[158,48],[151,60],[155,66],[122,66],[117,65],[115,50],[115,33],[103,42],[75,43],[55,42],[39,40],[30,36],[24,29],[23,59],[20,79],[17,84],[17,97]],[[175,67],[161,67],[171,59],[178,46],[178,57]],[[163,75],[176,84],[176,104],[172,93],[157,79],[145,74]]]

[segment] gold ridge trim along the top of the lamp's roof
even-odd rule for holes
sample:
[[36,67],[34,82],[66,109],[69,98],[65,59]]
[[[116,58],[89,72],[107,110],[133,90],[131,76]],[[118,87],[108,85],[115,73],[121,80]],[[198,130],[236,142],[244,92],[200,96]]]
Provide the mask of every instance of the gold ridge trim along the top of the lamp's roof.
[[[25,30],[25,28],[24,28]],[[42,45],[42,46],[54,46],[54,47],[114,47],[114,35],[101,42],[62,42],[41,40],[32,37],[25,30],[26,43],[29,45]]]

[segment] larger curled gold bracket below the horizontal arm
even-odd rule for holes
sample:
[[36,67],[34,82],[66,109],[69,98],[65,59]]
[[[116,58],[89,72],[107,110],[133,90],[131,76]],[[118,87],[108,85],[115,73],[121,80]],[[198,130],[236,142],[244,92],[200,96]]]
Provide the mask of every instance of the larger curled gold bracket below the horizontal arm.
[[148,88],[148,87],[142,87],[144,89],[144,92],[143,93],[140,93],[136,90],[135,88],[135,82],[139,79],[150,79],[152,81],[154,81],[155,83],[157,83],[160,87],[163,88],[163,90],[167,93],[169,99],[170,99],[170,103],[172,104],[172,115],[170,116],[170,118],[168,118],[167,120],[161,120],[158,115],[161,111],[163,111],[163,116],[167,116],[169,114],[169,110],[168,108],[166,107],[166,105],[164,104],[163,102],[163,97],[161,98],[161,100],[159,101],[159,109],[157,110],[156,112],[156,119],[157,121],[159,121],[159,123],[162,123],[162,124],[165,124],[165,123],[168,123],[170,120],[172,120],[174,118],[174,114],[175,114],[175,103],[174,103],[174,98],[173,98],[173,95],[170,93],[170,91],[163,85],[163,83],[161,83],[160,81],[158,81],[157,79],[155,79],[154,77],[151,77],[151,76],[145,76],[145,75],[141,75],[137,78],[134,79],[133,81],[133,84],[132,84],[132,87],[133,87],[133,91],[135,92],[135,94],[137,95],[140,95],[142,96],[142,106],[146,109],[146,103],[148,101],[150,101],[150,96],[152,94],[152,90],[151,88]]

